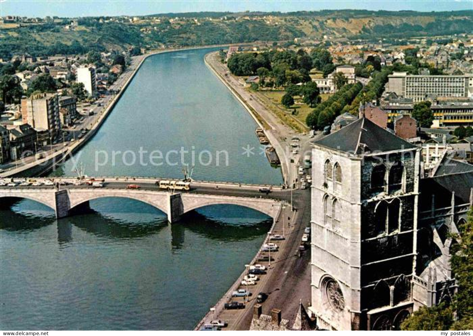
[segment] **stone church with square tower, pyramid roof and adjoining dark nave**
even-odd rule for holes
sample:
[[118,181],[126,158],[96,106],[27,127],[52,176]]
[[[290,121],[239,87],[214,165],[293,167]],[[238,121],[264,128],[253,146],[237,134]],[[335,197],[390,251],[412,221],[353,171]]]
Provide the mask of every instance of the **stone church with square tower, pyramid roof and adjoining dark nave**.
[[318,327],[399,330],[412,311],[454,295],[448,233],[472,205],[473,166],[439,163],[424,178],[421,150],[366,117],[314,142],[309,310]]

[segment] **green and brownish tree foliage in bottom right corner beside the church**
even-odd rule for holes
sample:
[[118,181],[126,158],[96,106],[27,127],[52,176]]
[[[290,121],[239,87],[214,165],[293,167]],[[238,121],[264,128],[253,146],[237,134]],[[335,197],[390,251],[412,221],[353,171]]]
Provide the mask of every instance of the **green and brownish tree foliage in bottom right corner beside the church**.
[[[451,303],[424,307],[403,321],[403,330],[472,330],[473,329],[473,208],[466,223],[458,228],[460,237],[452,247],[452,273],[458,281],[458,293]],[[454,316],[456,315],[456,318]]]

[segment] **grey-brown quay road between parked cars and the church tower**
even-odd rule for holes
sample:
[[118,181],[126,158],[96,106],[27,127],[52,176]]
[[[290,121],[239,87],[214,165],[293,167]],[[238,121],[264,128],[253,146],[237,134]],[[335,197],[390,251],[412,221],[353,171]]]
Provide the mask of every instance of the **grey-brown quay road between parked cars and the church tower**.
[[[260,252],[247,265],[260,264],[267,268],[266,274],[257,275],[259,280],[256,285],[248,286],[252,295],[245,302],[245,298],[232,298],[232,292],[237,289],[246,289],[241,281],[247,274],[247,267],[236,279],[235,283],[222,296],[222,298],[210,307],[209,312],[201,319],[194,330],[199,330],[205,323],[213,319],[220,319],[228,323],[222,330],[249,330],[253,318],[253,307],[259,292],[268,295],[262,303],[262,313],[271,314],[271,309],[281,309],[283,319],[293,325],[297,315],[299,303],[308,306],[310,302],[310,250],[307,249],[298,256],[298,249],[304,234],[304,229],[309,226],[310,221],[310,191],[298,190],[294,197],[292,211],[290,203],[287,203],[275,220],[271,230],[268,232],[265,243],[273,234],[284,235],[284,240],[271,241],[279,247],[278,252],[271,252],[271,265],[268,261],[258,261]],[[284,227],[284,229],[283,229]],[[264,255],[268,255],[267,252]],[[245,265],[241,265],[242,267]],[[245,309],[225,309],[225,303],[237,301],[245,304]]]

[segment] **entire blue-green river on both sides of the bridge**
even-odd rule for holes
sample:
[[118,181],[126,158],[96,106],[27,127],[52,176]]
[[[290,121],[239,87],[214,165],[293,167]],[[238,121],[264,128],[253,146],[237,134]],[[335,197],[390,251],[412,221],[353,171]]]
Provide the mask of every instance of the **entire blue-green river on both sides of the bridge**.
[[[80,162],[89,176],[178,178],[194,151],[194,179],[280,184],[254,120],[204,64],[210,50],[149,57],[96,136],[53,174],[75,176]],[[272,224],[231,205],[173,225],[133,200],[90,205],[59,221],[32,201],[0,208],[0,329],[192,329]]]

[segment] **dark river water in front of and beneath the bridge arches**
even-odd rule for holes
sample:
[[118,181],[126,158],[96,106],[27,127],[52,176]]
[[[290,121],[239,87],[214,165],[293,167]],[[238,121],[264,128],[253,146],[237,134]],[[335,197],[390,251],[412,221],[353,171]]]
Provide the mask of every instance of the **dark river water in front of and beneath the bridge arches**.
[[227,205],[172,225],[134,200],[99,199],[90,207],[59,221],[27,200],[0,210],[0,328],[192,329],[272,222]]

